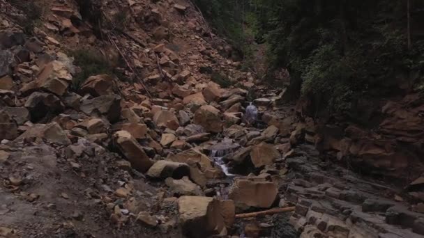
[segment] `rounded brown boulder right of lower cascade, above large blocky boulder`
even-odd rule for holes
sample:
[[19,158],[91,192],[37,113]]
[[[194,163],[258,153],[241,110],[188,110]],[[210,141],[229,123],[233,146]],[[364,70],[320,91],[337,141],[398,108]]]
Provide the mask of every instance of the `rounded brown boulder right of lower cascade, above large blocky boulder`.
[[250,151],[250,159],[256,168],[272,165],[275,159],[279,159],[280,157],[280,152],[278,152],[274,145],[268,143],[254,145]]

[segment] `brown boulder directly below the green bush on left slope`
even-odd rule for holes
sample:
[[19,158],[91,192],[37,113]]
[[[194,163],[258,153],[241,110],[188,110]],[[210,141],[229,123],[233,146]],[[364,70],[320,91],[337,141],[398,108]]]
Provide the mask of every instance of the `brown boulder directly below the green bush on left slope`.
[[79,89],[79,93],[89,93],[93,97],[113,93],[114,79],[107,74],[94,75],[86,79]]

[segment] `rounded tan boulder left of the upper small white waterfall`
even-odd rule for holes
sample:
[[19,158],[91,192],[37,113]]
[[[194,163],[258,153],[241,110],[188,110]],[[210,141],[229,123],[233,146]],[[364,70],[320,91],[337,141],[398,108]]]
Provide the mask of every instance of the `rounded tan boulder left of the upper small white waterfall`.
[[220,111],[213,106],[204,105],[197,109],[194,122],[197,125],[202,125],[206,132],[222,132]]

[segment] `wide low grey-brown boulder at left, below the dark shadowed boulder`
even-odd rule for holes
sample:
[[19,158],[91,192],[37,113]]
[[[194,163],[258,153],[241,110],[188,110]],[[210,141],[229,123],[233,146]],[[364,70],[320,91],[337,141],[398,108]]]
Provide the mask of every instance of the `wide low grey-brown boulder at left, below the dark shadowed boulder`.
[[61,145],[69,145],[70,140],[66,136],[63,129],[56,122],[50,124],[36,124],[20,135],[15,141],[35,141],[36,143],[58,143]]

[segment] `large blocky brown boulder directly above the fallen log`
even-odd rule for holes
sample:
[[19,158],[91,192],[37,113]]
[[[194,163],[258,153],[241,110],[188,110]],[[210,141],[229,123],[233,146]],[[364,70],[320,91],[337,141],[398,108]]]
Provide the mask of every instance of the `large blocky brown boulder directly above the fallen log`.
[[268,208],[277,198],[278,188],[273,182],[260,177],[238,177],[229,191],[229,199],[234,200],[236,207]]

